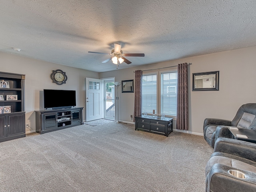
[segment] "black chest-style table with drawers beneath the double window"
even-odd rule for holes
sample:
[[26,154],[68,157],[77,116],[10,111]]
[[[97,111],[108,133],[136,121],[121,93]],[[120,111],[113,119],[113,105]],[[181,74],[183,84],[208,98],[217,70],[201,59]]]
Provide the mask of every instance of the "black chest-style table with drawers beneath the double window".
[[135,130],[145,130],[150,132],[162,133],[166,137],[172,132],[172,119],[169,117],[165,117],[162,119],[161,117],[156,116],[144,116],[140,115],[135,117]]

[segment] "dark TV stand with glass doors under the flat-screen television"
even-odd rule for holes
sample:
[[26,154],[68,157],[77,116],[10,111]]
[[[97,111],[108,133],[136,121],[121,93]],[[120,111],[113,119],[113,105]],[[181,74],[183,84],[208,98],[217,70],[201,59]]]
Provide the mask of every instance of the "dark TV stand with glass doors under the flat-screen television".
[[36,112],[36,132],[40,134],[81,125],[83,107],[39,110]]

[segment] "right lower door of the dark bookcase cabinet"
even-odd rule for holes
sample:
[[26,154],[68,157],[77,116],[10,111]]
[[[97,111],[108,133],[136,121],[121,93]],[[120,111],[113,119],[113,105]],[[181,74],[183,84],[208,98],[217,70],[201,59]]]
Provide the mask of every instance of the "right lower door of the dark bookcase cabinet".
[[25,134],[25,115],[8,114],[7,116],[7,137]]

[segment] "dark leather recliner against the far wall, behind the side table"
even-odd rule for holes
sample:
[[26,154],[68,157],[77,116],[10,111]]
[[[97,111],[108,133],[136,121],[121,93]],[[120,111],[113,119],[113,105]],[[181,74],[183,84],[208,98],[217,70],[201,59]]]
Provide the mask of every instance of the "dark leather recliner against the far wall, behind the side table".
[[204,139],[212,148],[219,137],[230,138],[228,126],[256,130],[256,103],[242,105],[232,121],[206,118],[204,120]]

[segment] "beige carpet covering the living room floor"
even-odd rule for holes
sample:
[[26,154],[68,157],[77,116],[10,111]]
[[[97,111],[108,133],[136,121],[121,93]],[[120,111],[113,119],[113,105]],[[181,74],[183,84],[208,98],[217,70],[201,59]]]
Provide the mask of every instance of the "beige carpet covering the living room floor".
[[202,136],[81,125],[0,143],[0,191],[203,192],[211,153]]

